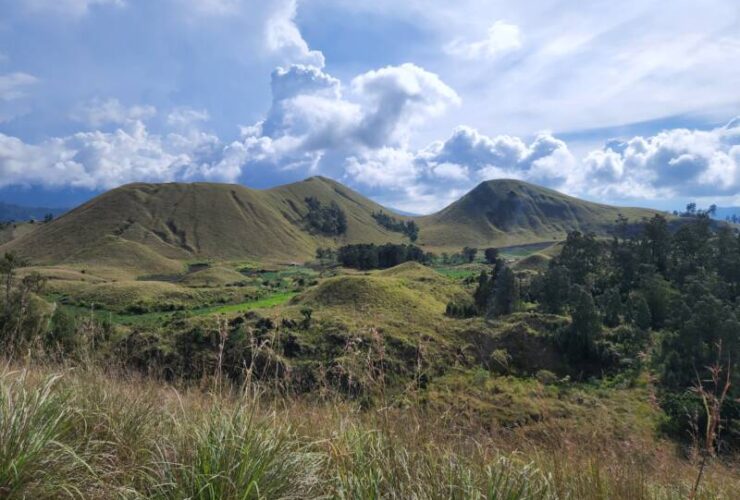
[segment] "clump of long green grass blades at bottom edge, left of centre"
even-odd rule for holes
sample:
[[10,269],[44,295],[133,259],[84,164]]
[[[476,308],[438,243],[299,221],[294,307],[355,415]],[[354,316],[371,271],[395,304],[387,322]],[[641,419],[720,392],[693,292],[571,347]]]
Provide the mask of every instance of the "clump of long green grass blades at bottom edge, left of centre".
[[161,450],[152,493],[201,500],[311,496],[323,457],[290,429],[255,420],[247,407],[214,407],[204,422],[178,429]]

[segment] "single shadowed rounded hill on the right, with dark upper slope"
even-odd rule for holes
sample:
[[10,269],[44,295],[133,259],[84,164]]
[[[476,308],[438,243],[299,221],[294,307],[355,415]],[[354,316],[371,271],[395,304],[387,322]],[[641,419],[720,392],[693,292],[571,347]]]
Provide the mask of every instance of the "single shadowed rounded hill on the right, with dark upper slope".
[[492,180],[444,210],[417,219],[419,242],[435,248],[508,246],[562,239],[569,231],[607,234],[619,214],[632,221],[655,210],[592,203],[517,180]]

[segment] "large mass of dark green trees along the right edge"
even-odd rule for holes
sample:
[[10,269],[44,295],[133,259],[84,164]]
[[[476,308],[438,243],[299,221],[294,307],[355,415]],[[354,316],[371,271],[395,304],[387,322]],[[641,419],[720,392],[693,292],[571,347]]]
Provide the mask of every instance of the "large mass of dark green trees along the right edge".
[[543,311],[572,316],[558,340],[574,361],[634,364],[651,351],[664,407],[682,430],[687,415],[702,414],[695,394],[708,366],[730,376],[727,426],[740,422],[740,236],[709,215],[675,232],[656,215],[632,236],[621,220],[608,242],[571,233],[528,291]]

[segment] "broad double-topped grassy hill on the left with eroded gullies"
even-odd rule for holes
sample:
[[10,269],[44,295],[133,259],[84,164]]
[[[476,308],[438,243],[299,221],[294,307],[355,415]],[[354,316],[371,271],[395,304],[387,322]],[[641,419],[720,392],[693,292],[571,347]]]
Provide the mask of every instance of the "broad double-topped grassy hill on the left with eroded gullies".
[[[304,220],[305,201],[335,201],[346,234],[329,238]],[[318,246],[401,241],[379,226],[380,205],[339,183],[313,177],[270,190],[230,184],[130,184],[111,190],[8,243],[37,263],[92,262],[144,271],[193,259],[305,259]]]

